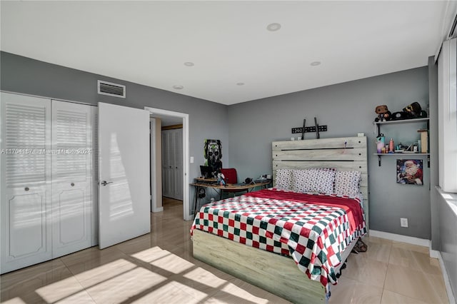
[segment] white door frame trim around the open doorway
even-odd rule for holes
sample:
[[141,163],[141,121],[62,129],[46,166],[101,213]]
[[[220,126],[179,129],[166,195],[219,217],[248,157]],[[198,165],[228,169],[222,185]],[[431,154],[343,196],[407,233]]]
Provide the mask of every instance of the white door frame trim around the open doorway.
[[[183,136],[182,136],[182,141],[183,141],[183,173],[182,173],[182,193],[183,193],[183,218],[184,221],[190,221],[191,214],[190,214],[190,202],[189,202],[189,114],[186,113],[180,113],[180,112],[175,112],[175,111],[168,111],[168,110],[163,110],[160,108],[151,108],[151,107],[145,107],[145,110],[149,111],[151,118],[161,118],[165,119],[166,121],[175,121],[178,123],[182,123],[183,125]],[[157,132],[157,130],[156,130]],[[152,133],[151,129],[151,135],[154,135]],[[158,173],[156,168],[158,166],[161,166],[161,163],[157,163],[156,160],[156,153],[157,153],[157,148],[156,145],[154,145],[154,140],[152,139],[151,136],[151,205],[157,206],[157,200],[161,200],[161,196],[159,197],[158,191],[157,191],[157,186],[156,186],[156,178],[158,178]],[[159,191],[161,192],[161,191]],[[151,210],[154,211],[154,208]],[[157,211],[159,211],[159,208],[156,208]]]

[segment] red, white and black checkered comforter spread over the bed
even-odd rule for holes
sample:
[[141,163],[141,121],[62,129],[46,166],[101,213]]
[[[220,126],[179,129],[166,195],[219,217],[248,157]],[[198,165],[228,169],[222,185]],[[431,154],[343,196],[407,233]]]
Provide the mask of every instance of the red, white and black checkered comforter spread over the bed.
[[311,280],[336,284],[341,253],[366,233],[359,198],[265,189],[206,204],[192,230],[289,255]]

